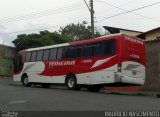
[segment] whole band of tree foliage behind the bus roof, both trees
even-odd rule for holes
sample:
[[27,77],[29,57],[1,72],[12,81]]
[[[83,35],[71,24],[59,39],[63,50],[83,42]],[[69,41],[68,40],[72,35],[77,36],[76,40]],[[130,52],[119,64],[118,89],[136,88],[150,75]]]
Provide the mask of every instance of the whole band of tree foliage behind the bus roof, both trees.
[[[12,41],[18,51],[22,49],[42,47],[60,43],[71,42],[74,40],[91,39],[91,27],[84,21],[78,24],[69,24],[60,28],[57,32],[40,31],[39,34],[21,34]],[[99,31],[95,31],[95,37],[101,36]]]

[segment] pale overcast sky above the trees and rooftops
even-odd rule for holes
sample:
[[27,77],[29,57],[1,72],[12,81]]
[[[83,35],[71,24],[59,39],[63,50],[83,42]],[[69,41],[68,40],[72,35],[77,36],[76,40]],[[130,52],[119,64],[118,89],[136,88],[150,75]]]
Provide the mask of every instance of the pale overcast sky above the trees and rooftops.
[[[89,0],[86,0],[89,4]],[[112,26],[148,31],[160,26],[160,0],[94,0],[95,27]],[[143,9],[122,14],[150,4]],[[122,14],[122,15],[117,15]],[[116,16],[117,15],[117,16]],[[14,46],[19,34],[58,31],[69,23],[87,21],[84,0],[0,0],[0,44]]]

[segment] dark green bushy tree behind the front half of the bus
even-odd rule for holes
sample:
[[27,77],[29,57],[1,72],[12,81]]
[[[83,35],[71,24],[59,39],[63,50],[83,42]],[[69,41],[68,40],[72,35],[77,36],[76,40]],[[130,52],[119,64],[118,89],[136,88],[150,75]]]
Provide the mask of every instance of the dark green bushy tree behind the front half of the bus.
[[73,41],[66,35],[58,34],[57,32],[40,31],[39,34],[21,34],[12,41],[18,51],[22,49],[42,47],[60,43]]

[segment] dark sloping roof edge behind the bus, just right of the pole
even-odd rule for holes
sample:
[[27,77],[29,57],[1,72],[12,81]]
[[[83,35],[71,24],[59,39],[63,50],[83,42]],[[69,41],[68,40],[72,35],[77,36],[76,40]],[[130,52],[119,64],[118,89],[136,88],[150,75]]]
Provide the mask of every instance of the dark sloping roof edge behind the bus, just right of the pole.
[[112,34],[120,33],[120,30],[143,33],[141,31],[135,31],[135,30],[129,30],[129,29],[123,29],[123,28],[116,28],[116,27],[110,27],[110,26],[103,26],[103,28],[105,28],[106,30],[108,30]]

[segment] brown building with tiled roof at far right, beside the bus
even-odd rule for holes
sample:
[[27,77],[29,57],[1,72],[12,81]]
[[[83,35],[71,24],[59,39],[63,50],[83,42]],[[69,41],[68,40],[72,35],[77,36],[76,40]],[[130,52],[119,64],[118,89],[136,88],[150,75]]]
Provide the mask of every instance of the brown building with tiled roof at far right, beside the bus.
[[160,91],[160,27],[137,37],[146,41],[146,83],[143,89]]

